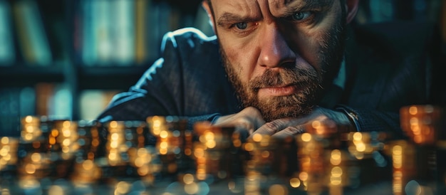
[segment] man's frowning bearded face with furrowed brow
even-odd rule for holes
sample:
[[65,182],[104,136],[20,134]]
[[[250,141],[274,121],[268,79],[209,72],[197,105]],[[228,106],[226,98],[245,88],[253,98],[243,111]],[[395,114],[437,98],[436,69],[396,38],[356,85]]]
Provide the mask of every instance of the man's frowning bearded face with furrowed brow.
[[343,56],[338,0],[212,0],[214,28],[244,106],[266,121],[299,117],[317,104]]

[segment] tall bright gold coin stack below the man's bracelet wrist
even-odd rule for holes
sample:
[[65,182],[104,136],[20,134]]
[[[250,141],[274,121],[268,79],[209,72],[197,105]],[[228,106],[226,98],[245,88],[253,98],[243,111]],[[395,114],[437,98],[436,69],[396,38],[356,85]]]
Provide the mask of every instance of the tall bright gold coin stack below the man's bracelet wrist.
[[296,135],[299,173],[293,178],[294,186],[300,184],[308,194],[343,194],[343,187],[350,181],[351,158],[341,149],[341,141],[332,121],[314,120],[305,133]]

